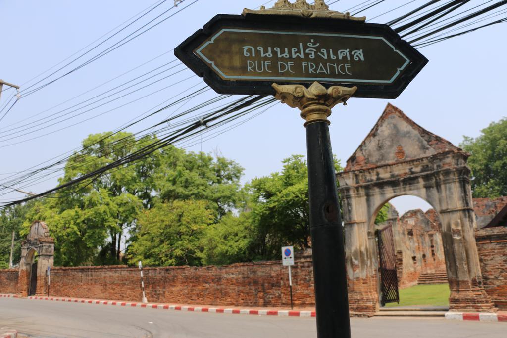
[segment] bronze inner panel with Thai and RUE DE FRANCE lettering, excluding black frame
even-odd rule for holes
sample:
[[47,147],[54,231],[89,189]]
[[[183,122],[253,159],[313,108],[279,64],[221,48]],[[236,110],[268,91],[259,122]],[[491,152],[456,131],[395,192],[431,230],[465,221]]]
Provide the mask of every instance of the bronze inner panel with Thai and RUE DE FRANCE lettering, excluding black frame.
[[321,32],[224,28],[194,53],[224,80],[390,84],[410,63],[381,36]]

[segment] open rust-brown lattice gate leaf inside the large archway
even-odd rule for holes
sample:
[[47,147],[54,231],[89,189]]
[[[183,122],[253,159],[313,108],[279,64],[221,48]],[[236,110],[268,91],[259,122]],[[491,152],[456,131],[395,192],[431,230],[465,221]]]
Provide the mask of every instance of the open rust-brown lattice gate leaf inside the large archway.
[[392,226],[377,230],[377,241],[380,259],[380,304],[384,306],[386,303],[400,303]]

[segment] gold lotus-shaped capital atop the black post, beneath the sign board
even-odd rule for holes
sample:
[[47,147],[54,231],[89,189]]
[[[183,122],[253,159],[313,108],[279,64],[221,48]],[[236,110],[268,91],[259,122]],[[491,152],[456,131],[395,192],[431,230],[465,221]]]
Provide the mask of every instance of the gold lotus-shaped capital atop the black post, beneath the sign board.
[[292,108],[301,110],[301,118],[306,122],[331,122],[328,117],[331,115],[331,108],[338,103],[346,105],[347,100],[355,93],[357,87],[352,88],[333,86],[325,89],[318,82],[314,82],[309,88],[303,85],[278,85],[274,83],[275,97],[282,103]]

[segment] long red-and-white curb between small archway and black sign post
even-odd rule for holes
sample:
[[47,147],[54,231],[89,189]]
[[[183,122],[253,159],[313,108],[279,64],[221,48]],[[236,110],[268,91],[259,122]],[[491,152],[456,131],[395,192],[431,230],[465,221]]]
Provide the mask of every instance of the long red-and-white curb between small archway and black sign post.
[[123,307],[136,307],[136,308],[161,309],[161,310],[230,313],[230,314],[238,314],[238,315],[241,314],[241,315],[284,316],[284,317],[315,317],[315,311],[203,308],[203,307],[190,307],[190,306],[179,306],[179,305],[168,305],[168,304],[143,304],[143,303],[129,303],[129,302],[118,302],[118,301],[100,301],[100,300],[96,300],[96,299],[39,297],[39,296],[30,296],[30,297],[27,297],[27,299],[38,299],[41,301],[56,301],[56,302],[68,302],[68,303],[97,304],[97,305],[114,305],[114,306],[123,306]]

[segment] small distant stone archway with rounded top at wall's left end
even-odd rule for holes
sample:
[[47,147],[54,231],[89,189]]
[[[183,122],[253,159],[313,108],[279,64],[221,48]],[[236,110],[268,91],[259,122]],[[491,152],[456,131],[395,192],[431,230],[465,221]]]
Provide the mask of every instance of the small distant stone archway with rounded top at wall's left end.
[[[30,282],[37,279],[35,294],[44,294],[47,290],[46,271],[53,267],[55,240],[49,237],[46,223],[34,221],[30,226],[30,232],[21,243],[21,260],[19,262],[18,292],[21,296],[27,296],[30,292]],[[35,254],[37,253],[37,271],[32,271]],[[32,285],[35,285],[33,283]]]

